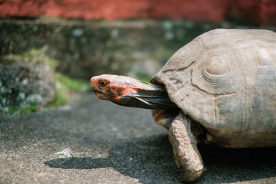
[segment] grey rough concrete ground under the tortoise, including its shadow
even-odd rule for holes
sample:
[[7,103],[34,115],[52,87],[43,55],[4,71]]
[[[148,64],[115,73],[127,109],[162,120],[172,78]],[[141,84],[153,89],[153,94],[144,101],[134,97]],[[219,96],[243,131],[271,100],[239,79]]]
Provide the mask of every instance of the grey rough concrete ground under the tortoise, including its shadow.
[[[68,158],[55,154],[70,147]],[[276,147],[199,147],[197,183],[276,183]],[[0,183],[179,183],[164,127],[149,110],[81,94],[61,108],[0,118]]]

